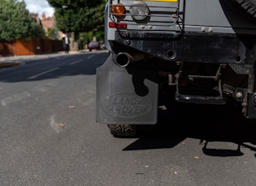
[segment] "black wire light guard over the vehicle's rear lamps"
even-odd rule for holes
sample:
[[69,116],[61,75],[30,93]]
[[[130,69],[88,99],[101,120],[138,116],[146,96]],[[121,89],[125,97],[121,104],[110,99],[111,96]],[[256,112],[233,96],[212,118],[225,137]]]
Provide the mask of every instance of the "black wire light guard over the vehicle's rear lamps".
[[[118,18],[111,13],[115,3],[125,6],[125,14]],[[109,16],[114,23],[127,23],[128,29],[176,30],[182,19],[180,1],[111,0]],[[180,28],[179,28],[180,29]]]

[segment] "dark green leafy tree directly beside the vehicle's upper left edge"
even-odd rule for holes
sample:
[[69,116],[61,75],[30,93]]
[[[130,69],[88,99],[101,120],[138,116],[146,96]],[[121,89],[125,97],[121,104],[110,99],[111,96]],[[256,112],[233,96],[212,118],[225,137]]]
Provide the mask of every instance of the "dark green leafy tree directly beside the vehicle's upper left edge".
[[104,32],[106,0],[47,0],[55,9],[57,27],[62,32]]

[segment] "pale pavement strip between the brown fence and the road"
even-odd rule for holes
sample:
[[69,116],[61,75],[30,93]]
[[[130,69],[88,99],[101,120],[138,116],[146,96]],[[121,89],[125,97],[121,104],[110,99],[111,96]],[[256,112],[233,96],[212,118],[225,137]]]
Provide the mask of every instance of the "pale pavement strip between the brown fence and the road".
[[[88,52],[87,50],[82,51],[70,51],[69,54],[75,54],[75,53],[85,53]],[[64,53],[63,51],[58,53],[47,53],[47,54],[37,54],[37,55],[24,55],[24,56],[11,56],[11,57],[0,57],[0,69],[1,68],[7,68],[11,66],[20,66],[24,64],[26,61],[33,61],[33,60],[39,60],[39,59],[46,59],[50,57],[58,57],[68,55]]]

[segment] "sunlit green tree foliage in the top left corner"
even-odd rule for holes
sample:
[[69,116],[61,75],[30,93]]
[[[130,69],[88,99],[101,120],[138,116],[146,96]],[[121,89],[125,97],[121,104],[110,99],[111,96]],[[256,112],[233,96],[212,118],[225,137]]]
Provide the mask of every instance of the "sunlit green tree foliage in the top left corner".
[[24,0],[0,0],[0,20],[0,40],[29,40],[42,35],[42,28],[26,9]]

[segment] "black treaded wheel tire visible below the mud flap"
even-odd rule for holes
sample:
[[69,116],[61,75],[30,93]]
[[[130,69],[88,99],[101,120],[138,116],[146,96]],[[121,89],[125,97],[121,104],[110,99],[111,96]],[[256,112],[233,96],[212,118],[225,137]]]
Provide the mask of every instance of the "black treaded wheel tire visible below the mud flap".
[[137,125],[109,124],[107,125],[114,137],[136,137]]

